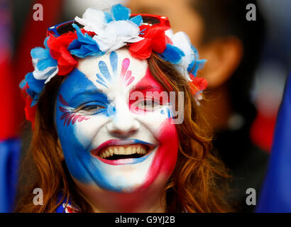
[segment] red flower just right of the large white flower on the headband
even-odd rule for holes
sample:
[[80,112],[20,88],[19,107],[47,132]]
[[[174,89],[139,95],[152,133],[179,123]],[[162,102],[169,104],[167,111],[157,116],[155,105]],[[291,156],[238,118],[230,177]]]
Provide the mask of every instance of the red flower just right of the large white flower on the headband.
[[144,39],[138,43],[129,44],[131,55],[139,59],[145,59],[150,57],[153,51],[163,53],[168,40],[165,31],[168,29],[165,26],[140,26],[141,33],[144,33],[141,37]]

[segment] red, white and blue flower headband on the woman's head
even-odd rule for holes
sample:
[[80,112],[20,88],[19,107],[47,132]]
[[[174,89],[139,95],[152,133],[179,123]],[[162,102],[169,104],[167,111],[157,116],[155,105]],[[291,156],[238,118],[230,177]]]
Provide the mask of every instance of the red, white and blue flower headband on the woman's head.
[[197,50],[185,33],[172,33],[168,18],[154,15],[144,18],[150,23],[145,23],[142,15],[131,16],[130,9],[116,4],[110,12],[87,9],[74,23],[64,23],[75,31],[60,34],[59,26],[49,28],[45,48],[31,50],[35,70],[26,74],[20,84],[27,94],[26,119],[34,124],[36,104],[45,84],[56,75],[72,72],[77,67],[77,57],[101,56],[125,45],[133,57],[147,59],[155,52],[175,65],[199,102],[207,81],[196,75],[206,60],[199,60]]

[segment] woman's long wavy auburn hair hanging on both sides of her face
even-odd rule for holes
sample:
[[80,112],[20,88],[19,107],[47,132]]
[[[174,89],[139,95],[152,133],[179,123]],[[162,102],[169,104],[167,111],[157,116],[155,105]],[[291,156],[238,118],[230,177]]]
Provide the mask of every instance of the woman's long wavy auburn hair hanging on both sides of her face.
[[[209,133],[209,127],[199,111],[190,86],[171,63],[161,60],[157,55],[153,54],[148,59],[148,65],[151,74],[165,91],[175,92],[176,100],[177,92],[185,94],[184,121],[176,125],[180,139],[177,163],[164,189],[166,211],[231,211],[224,200],[225,180],[229,175],[223,163],[214,155],[212,133]],[[26,167],[33,164],[34,171],[30,176],[33,182],[20,193],[16,212],[55,212],[57,206],[64,199],[68,201],[69,197],[72,205],[75,204],[80,212],[93,211],[70,177],[57,137],[54,123],[55,100],[63,79],[65,77],[54,77],[40,95],[31,147],[21,170],[26,172]],[[35,188],[43,189],[43,205],[33,204]],[[63,196],[57,202],[60,192]]]

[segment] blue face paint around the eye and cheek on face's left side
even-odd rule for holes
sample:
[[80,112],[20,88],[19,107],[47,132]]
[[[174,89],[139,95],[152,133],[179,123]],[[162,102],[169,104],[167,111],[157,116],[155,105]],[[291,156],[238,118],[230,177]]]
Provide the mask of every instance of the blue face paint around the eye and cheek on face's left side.
[[[88,106],[100,105],[104,109],[90,111],[88,114],[75,112],[80,106],[83,109]],[[76,135],[76,126],[84,120],[96,117],[100,114],[109,116],[107,108],[109,101],[105,94],[99,92],[97,87],[79,70],[73,70],[62,83],[55,111],[55,123],[57,133],[62,145],[62,151],[70,173],[80,182],[98,182],[105,184],[104,175],[92,166],[92,155],[90,155],[90,138]],[[73,116],[75,114],[75,117]],[[73,116],[73,117],[72,117]],[[79,117],[76,117],[79,116]],[[82,121],[80,121],[82,119]],[[81,142],[82,141],[82,142]]]

